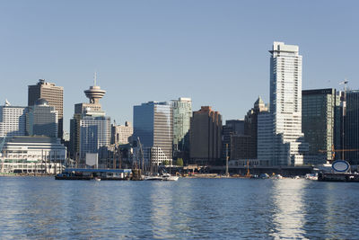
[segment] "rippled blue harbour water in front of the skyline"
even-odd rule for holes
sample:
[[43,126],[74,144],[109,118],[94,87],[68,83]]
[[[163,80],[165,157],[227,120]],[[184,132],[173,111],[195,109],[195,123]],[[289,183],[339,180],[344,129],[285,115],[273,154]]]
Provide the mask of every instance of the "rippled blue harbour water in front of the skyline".
[[359,183],[0,178],[0,239],[358,237]]

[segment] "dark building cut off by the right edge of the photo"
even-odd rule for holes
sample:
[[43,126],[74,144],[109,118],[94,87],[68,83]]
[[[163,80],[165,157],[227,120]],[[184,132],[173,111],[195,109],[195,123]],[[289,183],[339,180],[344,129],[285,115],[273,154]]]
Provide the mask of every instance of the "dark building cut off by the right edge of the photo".
[[344,124],[345,160],[350,164],[359,164],[359,90],[346,92],[346,115]]

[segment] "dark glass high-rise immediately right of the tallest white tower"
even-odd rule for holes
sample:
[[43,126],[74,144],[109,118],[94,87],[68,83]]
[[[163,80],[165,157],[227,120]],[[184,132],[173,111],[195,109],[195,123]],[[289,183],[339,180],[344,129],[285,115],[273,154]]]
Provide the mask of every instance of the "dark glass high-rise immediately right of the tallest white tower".
[[334,88],[302,91],[302,132],[309,144],[305,157],[309,162],[305,164],[325,164],[334,160],[331,149],[334,147],[336,100]]

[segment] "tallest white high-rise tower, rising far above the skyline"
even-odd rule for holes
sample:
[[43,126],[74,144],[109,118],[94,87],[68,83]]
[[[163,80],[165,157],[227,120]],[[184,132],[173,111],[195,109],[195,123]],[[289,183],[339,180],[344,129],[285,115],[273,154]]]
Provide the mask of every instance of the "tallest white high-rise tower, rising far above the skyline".
[[302,134],[302,56],[299,47],[274,42],[270,58],[270,112],[273,114],[272,164],[303,164],[308,150]]

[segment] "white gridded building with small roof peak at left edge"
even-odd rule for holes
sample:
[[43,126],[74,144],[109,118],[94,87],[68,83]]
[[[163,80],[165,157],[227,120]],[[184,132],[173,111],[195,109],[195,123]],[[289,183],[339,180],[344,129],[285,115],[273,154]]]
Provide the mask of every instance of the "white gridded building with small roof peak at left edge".
[[0,106],[0,138],[26,135],[27,107],[12,106],[7,100]]

